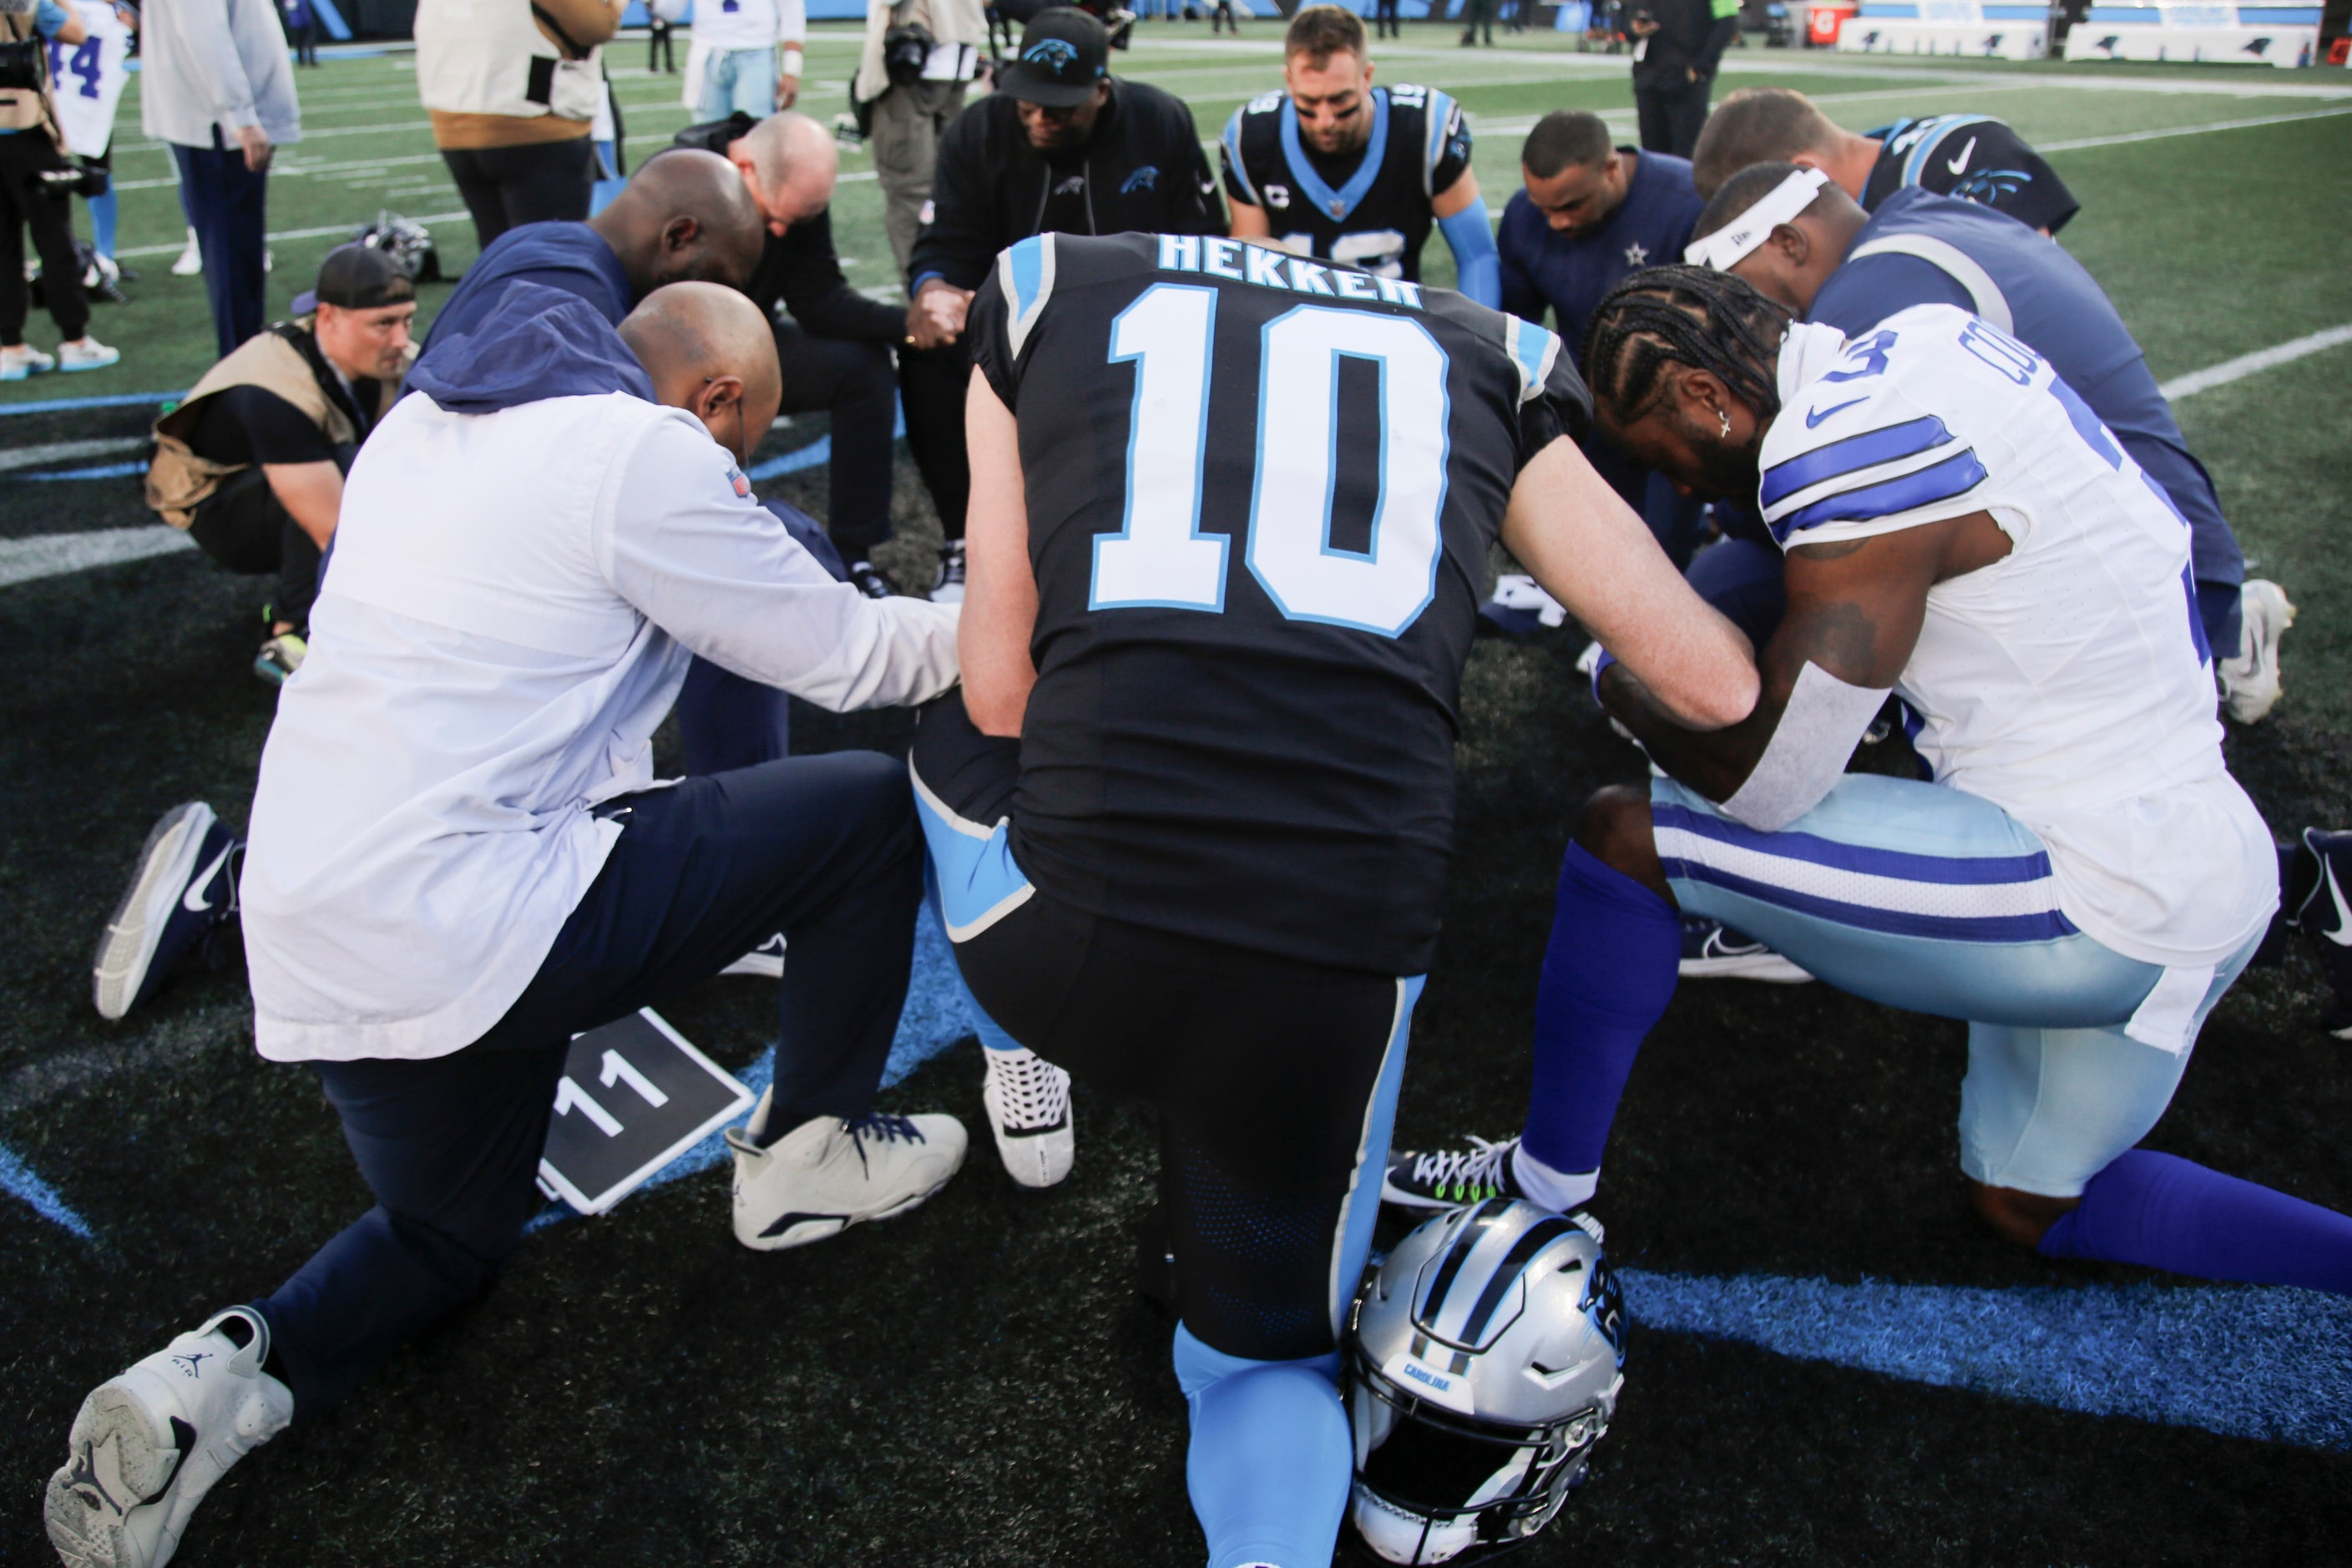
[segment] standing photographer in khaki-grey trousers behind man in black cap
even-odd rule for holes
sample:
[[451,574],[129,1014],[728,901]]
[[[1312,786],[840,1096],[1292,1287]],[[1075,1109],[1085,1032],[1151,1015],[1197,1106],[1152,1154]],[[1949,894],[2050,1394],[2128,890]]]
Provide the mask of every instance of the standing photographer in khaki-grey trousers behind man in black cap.
[[985,49],[981,0],[866,5],[866,54],[849,82],[849,106],[875,155],[882,228],[901,273],[915,256],[915,230],[931,221],[938,136],[964,113],[964,89],[981,73]]

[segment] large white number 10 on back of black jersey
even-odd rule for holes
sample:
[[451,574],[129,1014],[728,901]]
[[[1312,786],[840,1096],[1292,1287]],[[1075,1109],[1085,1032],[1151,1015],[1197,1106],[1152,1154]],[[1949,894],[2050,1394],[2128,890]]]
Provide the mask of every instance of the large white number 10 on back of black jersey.
[[[1225,609],[1232,541],[1202,534],[1216,289],[1160,282],[1110,324],[1134,362],[1127,517],[1094,541],[1089,609]],[[1338,364],[1378,369],[1371,451],[1341,451]],[[1261,329],[1247,564],[1291,621],[1399,637],[1437,592],[1446,498],[1446,355],[1404,315],[1298,306]],[[1228,388],[1232,395],[1232,388]],[[1364,550],[1331,543],[1341,463],[1374,461]]]

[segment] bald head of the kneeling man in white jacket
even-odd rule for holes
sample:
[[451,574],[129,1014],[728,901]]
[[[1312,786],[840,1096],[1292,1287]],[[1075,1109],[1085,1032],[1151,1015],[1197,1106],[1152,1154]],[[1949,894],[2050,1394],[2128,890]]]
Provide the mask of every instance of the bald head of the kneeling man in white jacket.
[[776,341],[760,306],[715,282],[673,282],[628,313],[621,341],[659,402],[703,421],[736,463],[750,461],[783,402]]

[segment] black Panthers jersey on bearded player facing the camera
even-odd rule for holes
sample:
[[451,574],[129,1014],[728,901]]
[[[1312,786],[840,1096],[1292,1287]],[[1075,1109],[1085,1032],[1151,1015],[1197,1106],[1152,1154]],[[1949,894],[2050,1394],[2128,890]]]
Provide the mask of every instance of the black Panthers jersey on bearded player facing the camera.
[[1298,136],[1291,94],[1270,92],[1232,110],[1218,160],[1225,193],[1261,207],[1282,249],[1421,277],[1430,197],[1470,167],[1470,122],[1435,87],[1374,87],[1371,139],[1324,158]]

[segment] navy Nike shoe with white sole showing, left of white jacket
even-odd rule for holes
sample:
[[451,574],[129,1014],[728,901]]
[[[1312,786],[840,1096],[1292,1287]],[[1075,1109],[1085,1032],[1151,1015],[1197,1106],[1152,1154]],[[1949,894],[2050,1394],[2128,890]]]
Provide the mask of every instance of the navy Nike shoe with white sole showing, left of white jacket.
[[162,813],[89,966],[99,1018],[122,1018],[153,997],[188,950],[212,945],[235,922],[242,851],[200,799]]

